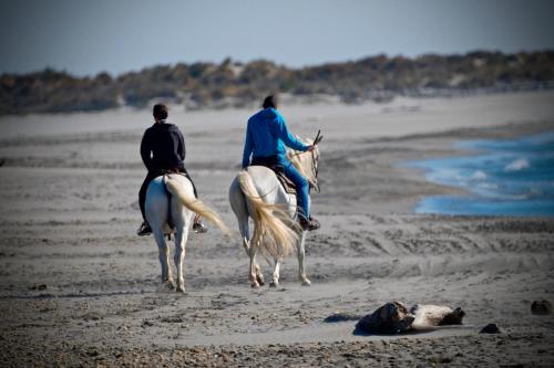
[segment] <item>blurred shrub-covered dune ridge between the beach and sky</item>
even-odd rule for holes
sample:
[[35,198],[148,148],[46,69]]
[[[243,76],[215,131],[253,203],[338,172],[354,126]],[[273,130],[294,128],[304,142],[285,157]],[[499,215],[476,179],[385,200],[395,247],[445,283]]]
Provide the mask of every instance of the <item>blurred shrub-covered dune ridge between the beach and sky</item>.
[[0,114],[102,111],[144,107],[152,101],[188,109],[249,106],[268,93],[335,95],[345,103],[387,101],[394,95],[429,96],[475,90],[554,87],[554,51],[465,55],[428,54],[414,59],[377,55],[359,61],[288,69],[269,61],[225,60],[144,69],[113,77],[75,77],[47,69],[0,76]]

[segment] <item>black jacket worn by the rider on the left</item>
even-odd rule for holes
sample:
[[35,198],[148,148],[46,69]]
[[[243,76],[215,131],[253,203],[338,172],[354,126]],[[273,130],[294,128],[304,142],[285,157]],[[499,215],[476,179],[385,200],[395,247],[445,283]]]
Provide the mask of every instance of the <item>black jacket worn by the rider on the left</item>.
[[141,157],[148,171],[184,168],[185,139],[183,134],[176,125],[155,123],[144,132]]

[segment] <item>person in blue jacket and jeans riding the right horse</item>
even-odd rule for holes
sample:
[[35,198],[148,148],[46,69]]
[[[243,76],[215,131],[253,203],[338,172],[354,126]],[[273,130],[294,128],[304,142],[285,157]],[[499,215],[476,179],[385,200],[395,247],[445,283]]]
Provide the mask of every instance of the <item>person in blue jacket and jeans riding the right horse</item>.
[[250,165],[283,167],[285,175],[296,185],[300,225],[306,230],[319,229],[319,222],[310,217],[308,180],[286,158],[285,146],[299,151],[311,151],[315,146],[307,146],[290,134],[283,115],[277,111],[277,98],[267,96],[264,109],[248,119],[246,141],[243,154],[243,168]]

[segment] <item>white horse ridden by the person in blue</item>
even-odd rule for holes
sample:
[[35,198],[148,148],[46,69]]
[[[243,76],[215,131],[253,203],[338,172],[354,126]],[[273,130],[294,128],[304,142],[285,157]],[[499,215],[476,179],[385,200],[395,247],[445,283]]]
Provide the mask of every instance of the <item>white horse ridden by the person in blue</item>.
[[[311,141],[305,141],[310,145]],[[311,153],[288,150],[287,158],[306,177],[311,187],[319,190],[317,165],[319,149]],[[264,285],[264,275],[256,262],[258,250],[267,259],[274,259],[270,286],[279,284],[279,267],[283,257],[296,245],[298,273],[302,285],[309,286],[304,266],[307,232],[297,222],[296,194],[285,191],[273,170],[264,166],[250,166],[240,170],[229,188],[229,201],[238,220],[238,229],[246,253],[250,257],[248,278],[252,287]],[[248,219],[254,221],[250,239]]]

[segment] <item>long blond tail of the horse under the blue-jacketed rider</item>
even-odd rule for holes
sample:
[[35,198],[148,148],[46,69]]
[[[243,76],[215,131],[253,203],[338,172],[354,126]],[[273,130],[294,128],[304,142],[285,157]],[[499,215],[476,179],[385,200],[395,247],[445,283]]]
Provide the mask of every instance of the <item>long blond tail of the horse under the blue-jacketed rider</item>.
[[264,202],[246,170],[238,174],[240,190],[250,203],[254,220],[254,235],[250,246],[258,246],[263,253],[274,257],[286,256],[298,241],[298,225],[290,219],[283,206]]

